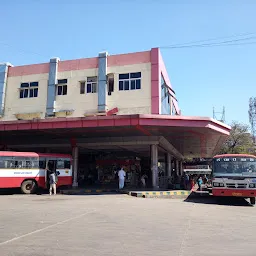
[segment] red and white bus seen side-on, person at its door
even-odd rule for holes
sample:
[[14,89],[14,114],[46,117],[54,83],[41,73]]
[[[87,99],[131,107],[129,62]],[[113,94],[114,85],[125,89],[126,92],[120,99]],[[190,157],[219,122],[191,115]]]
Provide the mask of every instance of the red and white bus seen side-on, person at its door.
[[0,188],[21,188],[25,194],[48,188],[48,162],[58,174],[57,187],[72,185],[72,157],[64,154],[0,151]]

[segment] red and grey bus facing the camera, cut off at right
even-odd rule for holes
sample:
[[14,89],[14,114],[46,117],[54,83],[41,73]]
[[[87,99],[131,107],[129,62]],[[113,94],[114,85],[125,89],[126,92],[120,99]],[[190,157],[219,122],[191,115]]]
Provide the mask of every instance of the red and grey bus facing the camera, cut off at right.
[[225,154],[213,158],[212,194],[249,198],[255,204],[256,156]]

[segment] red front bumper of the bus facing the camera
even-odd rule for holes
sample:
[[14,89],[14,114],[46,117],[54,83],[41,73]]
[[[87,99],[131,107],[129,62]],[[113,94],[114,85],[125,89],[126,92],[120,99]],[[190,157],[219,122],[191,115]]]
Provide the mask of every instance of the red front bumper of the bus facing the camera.
[[256,197],[255,189],[212,188],[213,196]]

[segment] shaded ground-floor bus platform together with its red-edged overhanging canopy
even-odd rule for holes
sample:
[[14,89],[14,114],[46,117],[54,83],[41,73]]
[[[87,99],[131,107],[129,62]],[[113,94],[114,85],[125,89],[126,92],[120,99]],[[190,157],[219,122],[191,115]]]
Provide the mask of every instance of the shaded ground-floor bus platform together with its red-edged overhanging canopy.
[[212,118],[159,114],[1,121],[0,148],[70,155],[74,188],[116,183],[115,173],[124,166],[131,187],[147,175],[148,187],[159,192],[160,171],[164,183],[180,178],[184,159],[212,157],[229,132]]

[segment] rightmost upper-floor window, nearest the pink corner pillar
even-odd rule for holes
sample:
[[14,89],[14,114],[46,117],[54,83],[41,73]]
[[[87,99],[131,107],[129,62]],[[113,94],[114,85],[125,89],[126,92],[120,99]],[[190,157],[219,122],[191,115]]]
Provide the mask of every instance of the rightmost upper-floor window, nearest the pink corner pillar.
[[119,91],[141,89],[141,72],[119,74]]

